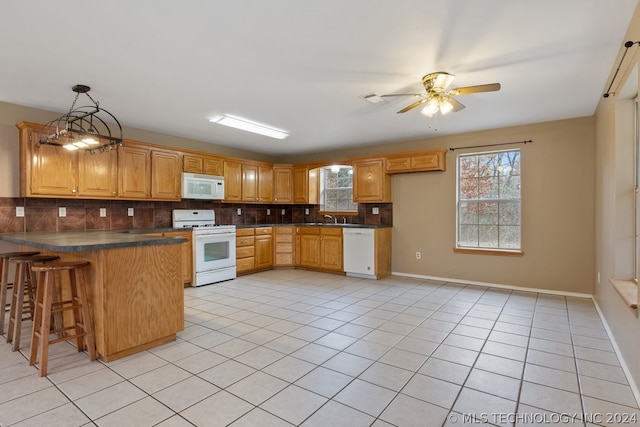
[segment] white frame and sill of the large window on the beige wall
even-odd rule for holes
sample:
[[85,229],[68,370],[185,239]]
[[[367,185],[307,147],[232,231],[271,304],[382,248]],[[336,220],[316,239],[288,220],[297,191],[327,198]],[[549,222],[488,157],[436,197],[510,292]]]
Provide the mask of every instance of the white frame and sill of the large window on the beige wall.
[[[499,155],[501,153],[512,153],[512,152],[517,152],[518,153],[518,167],[519,167],[519,173],[518,173],[518,177],[519,177],[519,185],[518,185],[518,197],[500,197],[500,195],[498,195],[495,198],[480,198],[477,197],[475,199],[461,199],[460,198],[460,187],[461,187],[461,168],[460,168],[460,164],[461,164],[461,159],[465,158],[465,157],[479,157],[479,156],[483,156],[483,155]],[[495,176],[495,175],[494,175]],[[462,202],[469,202],[471,201],[472,203],[495,203],[498,206],[500,206],[500,203],[507,203],[507,202],[517,202],[518,203],[518,234],[519,234],[519,240],[518,240],[518,247],[493,247],[493,246],[480,246],[480,242],[478,242],[478,246],[470,246],[470,245],[461,245],[461,226],[464,224],[461,224],[461,203]],[[499,212],[499,211],[498,211]],[[496,226],[500,226],[500,216],[498,214],[498,222],[495,224]],[[478,219],[478,223],[477,225],[481,225],[480,220]],[[468,153],[461,153],[458,154],[458,156],[456,157],[456,233],[455,233],[455,246],[454,246],[454,252],[455,253],[465,253],[465,254],[484,254],[484,255],[501,255],[501,256],[523,256],[524,252],[523,252],[523,242],[522,242],[522,150],[521,149],[503,149],[503,150],[490,150],[490,151],[477,151],[477,152],[468,152]],[[478,232],[479,233],[479,232]],[[479,236],[479,234],[478,234]],[[499,237],[498,237],[498,245],[500,244],[499,241]]]

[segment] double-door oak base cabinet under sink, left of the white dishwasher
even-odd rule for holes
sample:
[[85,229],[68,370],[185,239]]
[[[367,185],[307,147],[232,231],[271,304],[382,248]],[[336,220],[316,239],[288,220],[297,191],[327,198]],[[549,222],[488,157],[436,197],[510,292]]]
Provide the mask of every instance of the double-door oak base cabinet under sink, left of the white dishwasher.
[[342,228],[303,226],[296,229],[296,266],[343,272]]

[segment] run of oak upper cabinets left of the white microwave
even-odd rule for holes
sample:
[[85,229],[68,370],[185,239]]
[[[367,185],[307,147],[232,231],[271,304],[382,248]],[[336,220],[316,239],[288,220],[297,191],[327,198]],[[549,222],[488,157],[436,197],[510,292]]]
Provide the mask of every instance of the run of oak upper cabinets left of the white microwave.
[[180,154],[125,141],[104,152],[39,145],[42,126],[21,122],[23,197],[180,200]]

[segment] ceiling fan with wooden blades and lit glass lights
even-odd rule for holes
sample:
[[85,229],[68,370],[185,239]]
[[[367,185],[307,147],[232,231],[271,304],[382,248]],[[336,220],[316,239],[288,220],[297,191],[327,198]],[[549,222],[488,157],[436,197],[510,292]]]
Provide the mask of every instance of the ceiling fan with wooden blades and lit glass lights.
[[418,97],[416,102],[404,107],[398,111],[400,113],[406,113],[422,104],[426,104],[422,109],[422,114],[427,117],[432,117],[438,111],[441,114],[447,114],[451,111],[456,112],[464,108],[460,102],[458,102],[454,95],[468,95],[470,93],[480,92],[494,92],[500,90],[500,83],[489,83],[477,86],[465,86],[455,89],[447,90],[447,87],[453,82],[455,76],[453,74],[438,71],[430,73],[422,77],[422,84],[426,89],[424,93],[392,93],[388,95],[380,95],[382,98],[392,96],[414,96]]

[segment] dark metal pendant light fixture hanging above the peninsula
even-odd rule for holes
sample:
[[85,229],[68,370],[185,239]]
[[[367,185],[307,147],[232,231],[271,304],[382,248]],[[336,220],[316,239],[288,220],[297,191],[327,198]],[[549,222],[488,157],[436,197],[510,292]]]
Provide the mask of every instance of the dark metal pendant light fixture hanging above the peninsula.
[[[91,88],[75,85],[71,88],[76,97],[69,112],[42,127],[38,143],[55,145],[68,150],[86,150],[90,152],[113,150],[121,147],[122,126],[116,117],[100,108],[89,95]],[[92,105],[76,107],[78,97],[84,94]]]

